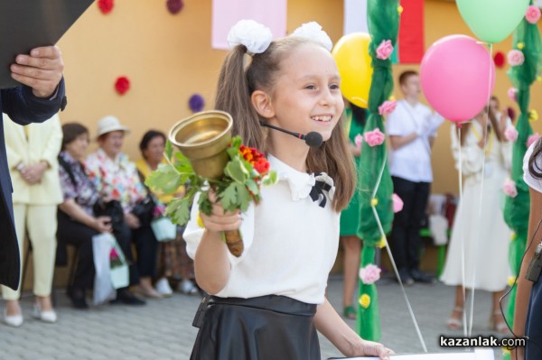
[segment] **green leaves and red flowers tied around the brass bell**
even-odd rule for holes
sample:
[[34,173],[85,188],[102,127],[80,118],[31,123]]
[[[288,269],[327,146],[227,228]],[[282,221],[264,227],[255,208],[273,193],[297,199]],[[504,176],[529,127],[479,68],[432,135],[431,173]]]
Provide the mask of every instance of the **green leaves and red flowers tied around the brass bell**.
[[[165,158],[169,163],[160,165],[147,177],[145,184],[151,189],[173,194],[182,184],[187,181],[190,183],[186,195],[183,198],[174,198],[165,209],[165,215],[171,217],[173,223],[180,226],[188,223],[190,208],[197,193],[200,193],[198,206],[203,214],[210,215],[212,209],[210,189],[216,193],[225,211],[246,211],[250,202],[259,202],[261,185],[276,183],[276,172],[269,171],[269,162],[264,154],[243,145],[239,136],[231,138],[226,151],[229,162],[224,169],[224,175],[219,180],[213,180],[196,174],[191,162],[182,152],[173,154],[172,143],[166,143]],[[242,254],[242,237],[238,231],[223,233],[223,239],[231,254]]]

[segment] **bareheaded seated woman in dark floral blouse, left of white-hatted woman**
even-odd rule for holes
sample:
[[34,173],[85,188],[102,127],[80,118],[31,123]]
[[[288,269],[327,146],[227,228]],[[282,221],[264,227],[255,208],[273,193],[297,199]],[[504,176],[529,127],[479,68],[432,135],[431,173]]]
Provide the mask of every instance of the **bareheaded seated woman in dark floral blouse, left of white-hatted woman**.
[[[68,295],[76,309],[87,309],[85,291],[92,289],[94,282],[94,259],[92,237],[112,231],[110,217],[95,217],[93,206],[98,201],[98,190],[85,172],[82,161],[89,146],[88,129],[77,123],[62,126],[63,140],[59,154],[59,171],[64,202],[59,205],[57,240],[59,247],[74,245],[79,248],[78,263]],[[115,233],[122,249],[130,248],[130,230],[121,224]],[[126,253],[130,258],[131,252]],[[130,272],[133,272],[130,269]],[[133,277],[132,275],[130,277]],[[117,291],[117,300],[129,305],[141,305],[145,301],[132,295],[127,288]]]

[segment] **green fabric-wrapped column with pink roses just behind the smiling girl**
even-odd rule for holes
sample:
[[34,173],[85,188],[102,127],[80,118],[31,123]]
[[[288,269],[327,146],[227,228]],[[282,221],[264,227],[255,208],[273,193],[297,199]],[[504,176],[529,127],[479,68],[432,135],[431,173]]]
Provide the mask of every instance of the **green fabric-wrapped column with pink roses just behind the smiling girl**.
[[[398,0],[369,0],[367,15],[369,55],[374,69],[369,90],[369,118],[364,128],[360,157],[360,226],[358,235],[363,239],[361,252],[360,298],[356,329],[361,337],[378,341],[380,319],[378,316],[378,293],[375,281],[375,247],[383,245],[383,234],[389,232],[393,221],[393,183],[387,164],[386,144],[382,115],[393,110],[395,103],[388,101],[393,90],[393,75],[389,55],[397,43],[399,14],[402,8]],[[375,192],[376,189],[376,192]],[[374,208],[374,210],[373,210]],[[378,277],[378,276],[377,276]]]

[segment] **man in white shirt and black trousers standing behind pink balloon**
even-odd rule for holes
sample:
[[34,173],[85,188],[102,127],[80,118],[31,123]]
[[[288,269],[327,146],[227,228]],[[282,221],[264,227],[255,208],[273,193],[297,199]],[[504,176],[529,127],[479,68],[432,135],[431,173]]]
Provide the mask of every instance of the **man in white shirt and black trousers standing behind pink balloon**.
[[404,99],[388,115],[386,128],[391,144],[389,171],[394,191],[403,200],[403,209],[395,215],[390,236],[390,250],[397,263],[401,282],[433,283],[435,278],[421,272],[420,227],[433,182],[431,148],[436,129],[444,122],[433,115],[429,107],[418,100],[420,78],[416,71],[407,70],[399,76]]

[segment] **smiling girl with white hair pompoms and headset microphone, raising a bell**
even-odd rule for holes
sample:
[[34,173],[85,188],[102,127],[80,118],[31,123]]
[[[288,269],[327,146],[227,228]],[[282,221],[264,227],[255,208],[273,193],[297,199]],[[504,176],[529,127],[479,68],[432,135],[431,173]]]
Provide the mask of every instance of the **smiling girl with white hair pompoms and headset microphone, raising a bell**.
[[[239,22],[229,33],[216,108],[234,119],[234,134],[266,152],[276,185],[247,213],[212,214],[197,207],[184,233],[197,282],[210,300],[192,359],[320,359],[316,329],[345,355],[378,355],[388,348],[361,339],[324,297],[339,242],[339,215],[354,190],[354,173],[341,128],[340,78],[331,40],[316,23],[271,42],[268,29]],[[309,33],[316,41],[299,36]],[[323,40],[328,48],[318,40]],[[245,69],[245,55],[251,62]],[[267,123],[325,143],[309,148]],[[313,201],[316,183],[325,183]],[[314,189],[317,189],[316,187]],[[320,189],[320,188],[318,188]],[[240,227],[245,251],[235,258],[220,233]]]

